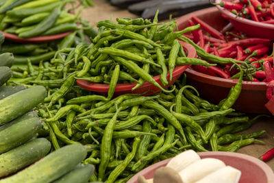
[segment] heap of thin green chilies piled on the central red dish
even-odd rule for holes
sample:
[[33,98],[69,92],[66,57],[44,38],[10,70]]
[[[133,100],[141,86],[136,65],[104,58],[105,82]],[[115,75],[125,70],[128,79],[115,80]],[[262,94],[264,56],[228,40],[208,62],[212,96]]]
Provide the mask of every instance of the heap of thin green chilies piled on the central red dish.
[[[147,81],[169,93],[171,90],[164,86],[171,82],[175,66],[214,64],[188,58],[177,40],[178,36],[199,28],[199,25],[173,32],[176,21],[158,23],[157,14],[152,23],[141,18],[116,19],[117,23],[100,21],[97,23],[99,32],[91,38],[91,44],[80,43],[75,48],[60,49],[55,53],[55,58],[59,58],[53,62],[59,62],[65,69],[77,65],[82,70],[75,79],[110,84],[110,90],[114,90],[117,83],[129,82],[136,84],[132,88],[135,90]],[[62,59],[64,54],[67,54],[66,59]],[[155,82],[155,75],[160,75],[161,84]],[[108,99],[111,97],[110,92]]]

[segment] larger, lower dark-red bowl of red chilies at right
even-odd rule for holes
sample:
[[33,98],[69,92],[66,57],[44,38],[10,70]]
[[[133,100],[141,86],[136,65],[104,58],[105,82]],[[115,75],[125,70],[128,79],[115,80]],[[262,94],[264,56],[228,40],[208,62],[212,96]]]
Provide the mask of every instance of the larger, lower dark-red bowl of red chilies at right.
[[273,95],[273,87],[266,95],[266,88],[271,87],[266,86],[269,80],[266,78],[265,66],[262,65],[264,62],[269,62],[271,69],[273,63],[271,40],[253,37],[238,38],[242,34],[233,27],[229,29],[234,36],[222,34],[227,29],[229,21],[224,19],[216,8],[199,10],[177,19],[179,29],[195,23],[199,23],[201,29],[186,35],[184,40],[196,45],[199,57],[209,62],[220,62],[217,66],[208,68],[192,65],[186,70],[189,84],[201,91],[201,97],[213,103],[219,103],[227,97],[230,88],[235,86],[238,78],[237,69],[231,67],[233,64],[227,63],[229,60],[245,61],[253,70],[247,70],[250,73],[245,72],[242,90],[233,108],[247,113],[269,113],[269,107],[266,108],[265,104]]

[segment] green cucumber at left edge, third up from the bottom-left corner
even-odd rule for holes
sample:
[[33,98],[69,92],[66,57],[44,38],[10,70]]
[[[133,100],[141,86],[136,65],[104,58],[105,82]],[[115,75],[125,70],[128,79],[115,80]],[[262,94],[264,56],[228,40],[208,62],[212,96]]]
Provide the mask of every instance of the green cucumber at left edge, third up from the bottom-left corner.
[[0,154],[13,149],[37,136],[41,122],[29,113],[0,127]]

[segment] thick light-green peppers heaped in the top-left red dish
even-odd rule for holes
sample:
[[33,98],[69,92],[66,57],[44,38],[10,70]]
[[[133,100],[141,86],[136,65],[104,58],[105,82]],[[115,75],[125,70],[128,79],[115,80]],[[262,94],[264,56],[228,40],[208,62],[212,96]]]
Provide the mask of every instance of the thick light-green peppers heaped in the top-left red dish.
[[[75,0],[7,0],[0,1],[0,30],[16,34],[19,38],[48,36],[79,29],[79,14],[64,9]],[[92,5],[92,1],[84,0]]]

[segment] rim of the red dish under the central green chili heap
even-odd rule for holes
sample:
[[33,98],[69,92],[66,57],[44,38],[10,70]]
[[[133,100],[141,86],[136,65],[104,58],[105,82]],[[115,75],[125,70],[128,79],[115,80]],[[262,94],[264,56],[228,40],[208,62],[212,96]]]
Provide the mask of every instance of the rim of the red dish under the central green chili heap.
[[[182,46],[190,53],[188,57],[195,58],[197,56],[196,50],[192,45],[190,45],[188,42],[181,42]],[[192,50],[192,51],[189,51]],[[195,51],[194,51],[195,50]],[[182,65],[182,66],[176,66],[173,75],[177,75],[179,73],[184,72],[190,65]],[[169,71],[167,73],[167,76],[169,77]],[[153,77],[154,80],[159,80],[160,75],[155,75]],[[85,88],[87,90],[92,90],[96,92],[108,92],[108,89],[110,88],[110,84],[97,84],[97,83],[91,83],[86,80],[76,80],[78,86]],[[134,86],[136,86],[137,82],[133,82],[132,84],[116,84],[115,92],[125,91],[125,90],[131,90]],[[146,88],[147,86],[151,86],[151,83],[145,82],[141,88]]]

